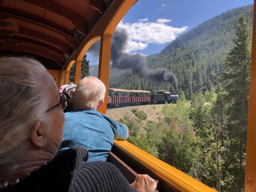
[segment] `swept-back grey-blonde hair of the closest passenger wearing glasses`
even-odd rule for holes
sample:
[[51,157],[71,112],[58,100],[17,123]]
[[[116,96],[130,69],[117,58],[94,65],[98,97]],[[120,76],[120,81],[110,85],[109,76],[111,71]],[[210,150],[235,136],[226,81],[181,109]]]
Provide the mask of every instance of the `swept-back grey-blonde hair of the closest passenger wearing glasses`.
[[[0,170],[8,174],[26,155],[32,126],[44,121],[53,79],[31,58],[0,58]],[[49,84],[49,85],[47,85]],[[14,171],[14,170],[13,170]],[[1,174],[0,174],[1,175]]]

